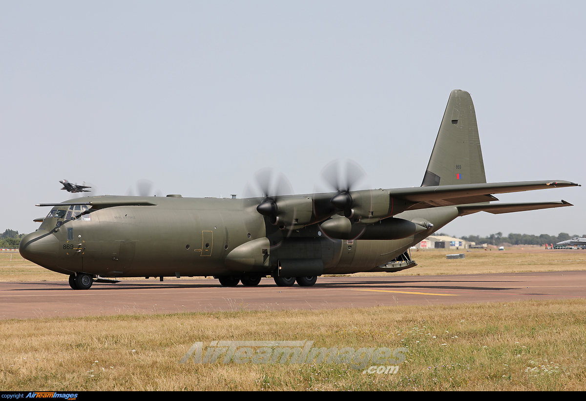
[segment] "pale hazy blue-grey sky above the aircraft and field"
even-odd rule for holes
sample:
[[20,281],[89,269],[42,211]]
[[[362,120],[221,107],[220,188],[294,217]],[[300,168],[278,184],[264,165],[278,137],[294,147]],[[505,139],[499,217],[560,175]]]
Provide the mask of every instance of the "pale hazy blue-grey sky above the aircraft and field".
[[[488,181],[585,184],[585,2],[0,2],[0,231],[59,180],[243,194],[263,167],[312,193],[333,159],[419,186],[449,92],[471,93]],[[571,208],[458,218],[452,235],[585,234]],[[136,191],[136,190],[135,190]]]

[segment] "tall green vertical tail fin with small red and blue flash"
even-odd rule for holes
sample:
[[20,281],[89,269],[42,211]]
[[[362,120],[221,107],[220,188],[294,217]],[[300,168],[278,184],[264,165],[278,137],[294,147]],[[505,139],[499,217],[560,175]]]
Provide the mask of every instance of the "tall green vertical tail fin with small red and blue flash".
[[452,90],[422,187],[486,183],[472,97]]

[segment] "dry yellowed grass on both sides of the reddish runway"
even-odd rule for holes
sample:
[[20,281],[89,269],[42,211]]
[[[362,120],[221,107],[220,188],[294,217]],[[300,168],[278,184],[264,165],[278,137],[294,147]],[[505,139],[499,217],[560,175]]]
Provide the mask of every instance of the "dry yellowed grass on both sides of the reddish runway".
[[[446,260],[456,252],[413,252],[419,266],[403,273],[586,268],[586,251],[459,251],[464,260]],[[0,279],[67,277],[0,254]],[[196,341],[226,340],[409,351],[394,374],[346,363],[179,363]],[[0,321],[2,391],[586,390],[585,358],[584,299]]]

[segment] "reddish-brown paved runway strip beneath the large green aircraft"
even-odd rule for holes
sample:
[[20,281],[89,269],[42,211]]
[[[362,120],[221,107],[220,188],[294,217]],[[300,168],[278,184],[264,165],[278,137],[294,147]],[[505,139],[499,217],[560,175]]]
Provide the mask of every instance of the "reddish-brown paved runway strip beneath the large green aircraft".
[[217,280],[94,283],[0,282],[0,319],[210,311],[274,311],[370,306],[585,299],[586,271],[483,275],[320,277],[314,287],[220,287]]

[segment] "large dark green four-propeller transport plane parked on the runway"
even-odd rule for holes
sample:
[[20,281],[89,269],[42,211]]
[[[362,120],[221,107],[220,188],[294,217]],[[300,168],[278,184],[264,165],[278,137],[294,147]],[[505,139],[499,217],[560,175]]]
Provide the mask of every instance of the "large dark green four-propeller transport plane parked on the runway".
[[[73,289],[118,277],[213,276],[232,287],[314,285],[322,274],[414,267],[409,248],[458,216],[571,206],[494,203],[493,194],[578,186],[570,181],[486,183],[468,92],[449,96],[421,187],[256,198],[93,196],[51,211],[20,252],[69,275]],[[109,278],[109,279],[108,279]]]

